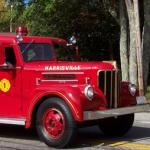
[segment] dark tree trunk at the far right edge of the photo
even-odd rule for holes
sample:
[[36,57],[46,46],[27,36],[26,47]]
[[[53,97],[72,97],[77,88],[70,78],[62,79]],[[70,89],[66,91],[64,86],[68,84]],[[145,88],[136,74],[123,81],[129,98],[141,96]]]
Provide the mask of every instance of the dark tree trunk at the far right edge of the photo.
[[150,64],[150,0],[144,0],[143,72],[146,89]]

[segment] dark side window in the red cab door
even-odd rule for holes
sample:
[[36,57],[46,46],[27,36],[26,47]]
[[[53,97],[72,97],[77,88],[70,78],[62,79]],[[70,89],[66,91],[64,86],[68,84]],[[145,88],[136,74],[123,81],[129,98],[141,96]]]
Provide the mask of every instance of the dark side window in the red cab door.
[[6,63],[16,65],[16,57],[12,47],[5,48]]

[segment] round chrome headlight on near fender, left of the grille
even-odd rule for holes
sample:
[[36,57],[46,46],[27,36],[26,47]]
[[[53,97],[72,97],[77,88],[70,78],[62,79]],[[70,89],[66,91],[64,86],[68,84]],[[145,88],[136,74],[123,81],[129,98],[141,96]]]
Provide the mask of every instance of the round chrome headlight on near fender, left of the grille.
[[92,100],[94,97],[94,89],[91,85],[87,85],[84,89],[84,95],[89,99]]

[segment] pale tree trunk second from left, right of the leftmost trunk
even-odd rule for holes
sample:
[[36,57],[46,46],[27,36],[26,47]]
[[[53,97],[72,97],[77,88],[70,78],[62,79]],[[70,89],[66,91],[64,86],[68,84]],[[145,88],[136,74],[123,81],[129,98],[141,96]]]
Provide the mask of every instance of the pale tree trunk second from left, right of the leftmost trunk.
[[125,0],[129,18],[130,50],[129,50],[129,81],[137,85],[137,55],[134,5],[132,0]]

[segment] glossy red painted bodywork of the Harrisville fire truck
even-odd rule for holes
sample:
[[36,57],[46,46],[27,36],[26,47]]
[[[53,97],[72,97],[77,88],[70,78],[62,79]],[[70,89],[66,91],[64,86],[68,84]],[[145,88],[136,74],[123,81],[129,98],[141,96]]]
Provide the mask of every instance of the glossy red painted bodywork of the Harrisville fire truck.
[[[70,107],[77,121],[83,121],[83,111],[85,110],[107,109],[108,100],[106,100],[104,93],[98,88],[98,71],[115,69],[113,64],[108,62],[65,62],[57,61],[56,58],[50,61],[26,63],[23,61],[15,35],[0,35],[0,42],[4,48],[9,46],[13,47],[17,60],[16,68],[0,69],[0,80],[6,78],[11,83],[11,88],[7,93],[0,91],[0,117],[25,118],[27,120],[26,127],[29,127],[33,119],[32,112],[36,104],[43,97],[52,96],[62,98]],[[22,42],[49,43],[51,45],[53,42],[66,43],[62,39],[31,36],[24,36]],[[80,69],[45,70],[47,66],[55,66],[58,68],[76,66]],[[49,78],[48,75],[45,76],[43,73],[53,75],[62,73],[69,74],[69,79],[68,81],[60,81],[58,78],[62,79],[62,77],[57,75],[56,81],[43,82],[42,80],[52,79],[52,77]],[[95,91],[95,96],[92,101],[89,101],[83,94],[87,79]],[[135,100],[135,97],[132,97],[128,90],[125,90],[127,90],[126,85],[123,84],[120,94],[121,107],[131,105]],[[48,113],[51,115],[51,112]]]

